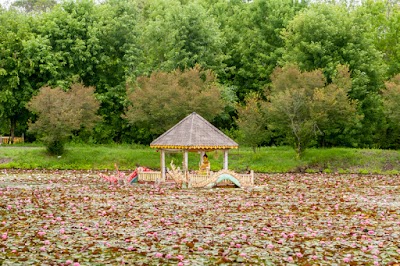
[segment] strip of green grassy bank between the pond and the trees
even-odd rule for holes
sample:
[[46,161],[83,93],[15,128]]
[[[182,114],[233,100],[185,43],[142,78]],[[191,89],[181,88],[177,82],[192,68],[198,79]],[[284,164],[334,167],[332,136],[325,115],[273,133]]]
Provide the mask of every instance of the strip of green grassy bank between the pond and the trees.
[[[223,153],[208,153],[211,168],[222,168]],[[166,163],[182,164],[182,154],[167,154]],[[189,167],[197,169],[199,155],[189,154]],[[0,168],[22,169],[114,169],[131,170],[136,165],[159,169],[159,153],[140,145],[67,145],[61,157],[49,156],[43,146],[0,146]],[[256,172],[327,172],[327,173],[400,173],[400,153],[377,149],[309,149],[296,160],[290,147],[264,147],[254,153],[250,148],[231,150],[229,168]]]

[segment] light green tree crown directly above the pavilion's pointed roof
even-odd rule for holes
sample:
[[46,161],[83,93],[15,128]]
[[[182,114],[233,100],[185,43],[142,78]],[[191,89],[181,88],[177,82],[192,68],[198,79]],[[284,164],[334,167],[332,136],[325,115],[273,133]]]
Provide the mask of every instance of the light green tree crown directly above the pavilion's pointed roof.
[[213,17],[197,1],[153,0],[143,9],[141,74],[195,65],[223,71],[225,40]]

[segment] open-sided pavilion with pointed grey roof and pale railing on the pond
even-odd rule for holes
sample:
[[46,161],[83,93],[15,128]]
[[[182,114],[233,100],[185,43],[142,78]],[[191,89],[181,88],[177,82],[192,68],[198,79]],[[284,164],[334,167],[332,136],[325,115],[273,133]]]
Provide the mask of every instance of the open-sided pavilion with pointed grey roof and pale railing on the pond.
[[[184,183],[186,183],[185,186],[187,187],[212,187],[223,180],[229,180],[238,187],[252,186],[254,184],[253,171],[250,174],[237,174],[228,170],[228,152],[230,149],[237,149],[239,145],[195,112],[155,139],[150,144],[150,147],[160,152],[161,172],[139,173],[139,180],[165,181],[165,153],[183,152],[182,171],[180,169],[179,173],[174,171],[173,175],[180,175],[181,179],[185,180]],[[202,163],[203,155],[206,152],[215,150],[224,152],[221,171],[207,174],[189,173],[189,152],[200,153],[200,163]]]

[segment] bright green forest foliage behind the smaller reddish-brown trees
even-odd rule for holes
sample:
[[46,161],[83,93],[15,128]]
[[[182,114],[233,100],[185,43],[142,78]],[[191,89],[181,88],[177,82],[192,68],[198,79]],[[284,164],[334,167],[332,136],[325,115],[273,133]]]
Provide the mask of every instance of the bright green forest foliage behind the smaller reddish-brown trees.
[[[238,132],[236,107],[251,92],[262,95],[277,66],[321,69],[327,84],[344,88],[334,81],[337,66],[343,65],[351,78],[344,89],[357,102],[362,120],[343,118],[340,128],[325,117],[324,130],[315,131],[319,134],[312,143],[399,147],[397,126],[387,116],[381,94],[384,81],[400,71],[397,0],[10,2],[0,8],[1,134],[28,135],[34,114],[25,106],[41,87],[67,89],[82,83],[96,88],[103,120],[93,131],[75,130],[74,142],[148,143],[159,134],[150,130],[152,124],[124,119],[127,86],[138,77],[184,72],[196,65],[212,70],[227,100],[209,120],[226,132]],[[326,104],[333,101],[331,93],[345,97],[334,93],[335,87],[323,87],[330,90],[319,96]],[[262,145],[288,143],[279,130],[273,134]]]

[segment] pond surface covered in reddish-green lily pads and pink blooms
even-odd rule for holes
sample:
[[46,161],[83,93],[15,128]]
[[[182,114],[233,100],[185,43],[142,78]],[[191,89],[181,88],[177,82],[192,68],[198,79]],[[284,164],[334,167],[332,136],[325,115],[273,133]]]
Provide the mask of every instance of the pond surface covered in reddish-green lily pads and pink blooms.
[[270,174],[258,175],[255,189],[185,191],[110,186],[92,171],[3,171],[0,181],[4,264],[400,260],[393,176]]

